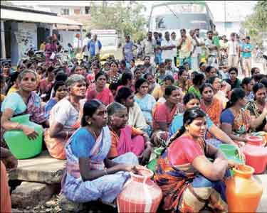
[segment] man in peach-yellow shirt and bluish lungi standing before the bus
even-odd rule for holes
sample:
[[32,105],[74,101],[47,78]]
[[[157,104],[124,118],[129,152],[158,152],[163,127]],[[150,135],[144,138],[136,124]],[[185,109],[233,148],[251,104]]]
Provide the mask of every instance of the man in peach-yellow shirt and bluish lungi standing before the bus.
[[178,41],[178,49],[179,49],[179,61],[180,66],[184,65],[184,62],[189,63],[189,67],[191,68],[191,55],[192,55],[192,42],[187,37],[187,31],[185,29],[180,30],[181,38]]

